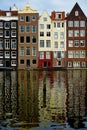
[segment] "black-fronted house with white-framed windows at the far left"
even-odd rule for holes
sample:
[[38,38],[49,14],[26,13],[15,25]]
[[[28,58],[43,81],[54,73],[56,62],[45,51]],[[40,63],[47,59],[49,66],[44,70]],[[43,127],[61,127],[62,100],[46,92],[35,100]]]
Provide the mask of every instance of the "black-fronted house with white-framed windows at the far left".
[[17,68],[18,11],[14,5],[9,11],[0,10],[0,68]]

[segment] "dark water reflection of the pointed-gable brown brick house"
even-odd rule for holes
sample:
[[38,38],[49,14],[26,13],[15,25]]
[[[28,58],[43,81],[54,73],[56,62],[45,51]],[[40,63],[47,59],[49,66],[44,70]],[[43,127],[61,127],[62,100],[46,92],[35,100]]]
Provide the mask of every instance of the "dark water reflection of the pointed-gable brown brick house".
[[71,127],[83,128],[87,117],[87,71],[67,72],[67,119]]

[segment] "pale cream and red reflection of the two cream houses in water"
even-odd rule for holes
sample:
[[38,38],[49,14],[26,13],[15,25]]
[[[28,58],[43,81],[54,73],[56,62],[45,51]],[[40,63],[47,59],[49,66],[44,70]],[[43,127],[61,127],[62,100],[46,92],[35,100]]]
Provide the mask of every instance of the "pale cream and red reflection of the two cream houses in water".
[[39,121],[65,122],[66,82],[63,71],[44,71],[39,77]]

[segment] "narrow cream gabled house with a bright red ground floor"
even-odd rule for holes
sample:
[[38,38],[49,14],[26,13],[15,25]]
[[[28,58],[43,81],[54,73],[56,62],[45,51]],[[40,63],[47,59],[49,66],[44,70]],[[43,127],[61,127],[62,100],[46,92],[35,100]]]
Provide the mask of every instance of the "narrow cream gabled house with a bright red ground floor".
[[38,20],[38,67],[52,68],[52,27],[51,18],[46,10]]

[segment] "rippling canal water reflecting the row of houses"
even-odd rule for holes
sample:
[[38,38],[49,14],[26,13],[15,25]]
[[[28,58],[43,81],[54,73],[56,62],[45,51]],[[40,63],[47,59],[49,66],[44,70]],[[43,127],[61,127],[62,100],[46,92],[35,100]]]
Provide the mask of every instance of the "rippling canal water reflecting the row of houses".
[[87,70],[0,71],[0,129],[81,128],[87,129]]

